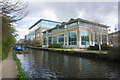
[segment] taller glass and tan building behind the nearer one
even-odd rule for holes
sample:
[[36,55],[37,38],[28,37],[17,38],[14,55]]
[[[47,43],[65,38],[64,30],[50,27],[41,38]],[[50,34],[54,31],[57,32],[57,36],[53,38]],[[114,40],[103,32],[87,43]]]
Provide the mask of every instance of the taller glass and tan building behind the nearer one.
[[[56,25],[61,24],[60,22],[51,21],[51,20],[45,20],[40,19],[38,22],[36,22],[34,25],[32,25],[29,28],[29,34],[27,35],[28,40],[32,42],[32,46],[42,46],[43,40],[46,41],[47,38],[42,38],[43,31],[46,31],[47,29],[53,28]],[[47,43],[44,42],[44,45]]]

